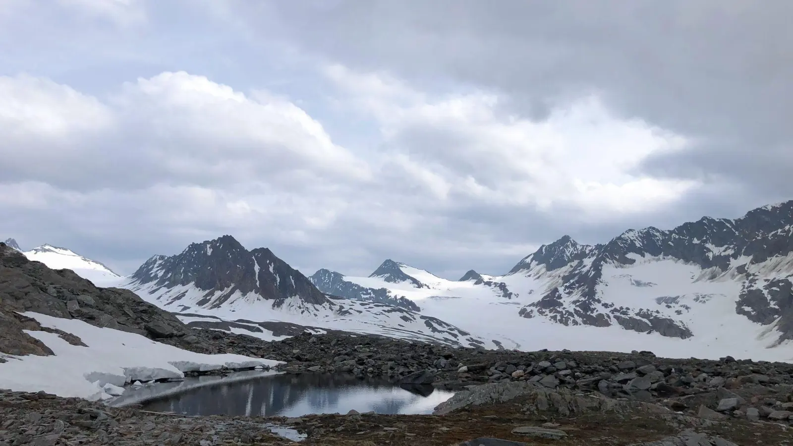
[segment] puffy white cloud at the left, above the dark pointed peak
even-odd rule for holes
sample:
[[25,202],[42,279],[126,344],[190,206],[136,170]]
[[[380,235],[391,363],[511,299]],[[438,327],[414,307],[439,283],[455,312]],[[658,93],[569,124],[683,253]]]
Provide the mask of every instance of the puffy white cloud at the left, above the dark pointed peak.
[[88,189],[251,181],[303,189],[371,175],[292,102],[185,72],[127,83],[105,102],[27,75],[0,78],[0,94],[8,98],[0,129],[17,138],[0,147],[8,178]]

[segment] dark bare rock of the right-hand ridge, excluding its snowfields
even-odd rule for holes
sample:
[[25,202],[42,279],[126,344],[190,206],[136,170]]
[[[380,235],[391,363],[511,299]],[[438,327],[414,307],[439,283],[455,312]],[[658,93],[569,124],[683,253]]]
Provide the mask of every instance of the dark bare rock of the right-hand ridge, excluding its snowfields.
[[[520,310],[523,317],[542,315],[564,325],[608,326],[619,324],[639,333],[687,338],[691,330],[654,309],[615,307],[603,300],[597,287],[607,264],[630,266],[634,256],[671,258],[695,264],[716,279],[728,272],[743,280],[736,313],[762,325],[776,323],[782,333],[778,343],[793,339],[793,282],[785,272],[784,257],[793,253],[793,201],[763,206],[735,220],[703,217],[675,229],[629,229],[607,244],[578,244],[564,236],[542,245],[512,268],[509,274],[543,274],[566,268],[561,286]],[[780,264],[759,271],[770,259]],[[544,267],[544,268],[542,268]],[[539,271],[539,272],[537,272]],[[764,274],[772,272],[771,279]],[[633,286],[655,286],[632,280]],[[675,296],[658,298],[677,314],[687,311]]]

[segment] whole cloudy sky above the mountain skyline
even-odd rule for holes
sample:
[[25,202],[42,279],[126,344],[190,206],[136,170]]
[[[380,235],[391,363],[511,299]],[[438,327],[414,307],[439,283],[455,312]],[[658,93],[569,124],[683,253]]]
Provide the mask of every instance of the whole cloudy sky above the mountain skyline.
[[793,2],[2,0],[0,239],[503,274],[793,198]]

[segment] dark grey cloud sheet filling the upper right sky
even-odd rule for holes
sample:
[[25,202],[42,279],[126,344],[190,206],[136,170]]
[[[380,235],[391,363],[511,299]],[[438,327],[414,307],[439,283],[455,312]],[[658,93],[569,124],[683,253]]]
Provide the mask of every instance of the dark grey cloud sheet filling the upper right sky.
[[247,10],[247,17],[278,17],[275,29],[307,52],[351,67],[501,90],[527,116],[543,116],[538,104],[600,91],[624,117],[697,141],[648,160],[647,173],[659,175],[665,165],[667,175],[737,180],[754,190],[756,204],[769,190],[793,195],[789,183],[742,168],[760,161],[793,167],[780,157],[793,152],[791,2],[349,0],[321,11],[293,2],[266,7],[269,15]]

